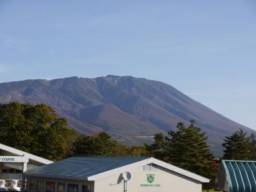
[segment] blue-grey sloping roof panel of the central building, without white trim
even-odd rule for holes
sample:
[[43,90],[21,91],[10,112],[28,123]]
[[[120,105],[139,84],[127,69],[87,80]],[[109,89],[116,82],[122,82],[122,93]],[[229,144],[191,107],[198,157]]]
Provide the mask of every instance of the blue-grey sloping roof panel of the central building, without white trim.
[[143,161],[148,157],[71,157],[56,163],[28,170],[26,175],[44,175],[54,177],[77,177],[86,179],[92,175],[107,172],[127,164]]

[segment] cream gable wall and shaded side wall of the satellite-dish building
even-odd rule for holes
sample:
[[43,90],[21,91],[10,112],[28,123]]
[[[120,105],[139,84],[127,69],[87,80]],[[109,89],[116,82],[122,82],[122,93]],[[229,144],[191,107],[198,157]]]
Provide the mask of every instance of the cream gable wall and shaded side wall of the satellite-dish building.
[[[131,173],[131,180],[127,181],[127,192],[202,192],[202,184],[200,182],[161,167],[153,171],[144,170],[143,166],[141,166],[127,171]],[[147,175],[149,174],[154,175],[152,183],[147,181]],[[120,178],[120,174],[97,181],[28,177],[27,191],[37,191],[29,189],[30,180],[41,180],[44,183],[42,192],[45,191],[46,182],[54,182],[54,192],[58,192],[58,182],[65,183],[65,192],[68,192],[68,184],[79,185],[77,192],[82,192],[82,185],[90,185],[91,192],[124,192],[124,181],[118,184],[118,178]]]

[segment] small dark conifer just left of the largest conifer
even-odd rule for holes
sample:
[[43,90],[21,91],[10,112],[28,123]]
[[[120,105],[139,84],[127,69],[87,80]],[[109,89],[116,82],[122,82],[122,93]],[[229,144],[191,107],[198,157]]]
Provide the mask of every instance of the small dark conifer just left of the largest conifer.
[[164,137],[163,133],[157,133],[154,136],[154,143],[152,144],[144,144],[146,150],[150,154],[150,156],[154,156],[157,159],[166,160],[167,156],[167,148],[168,148],[168,140]]

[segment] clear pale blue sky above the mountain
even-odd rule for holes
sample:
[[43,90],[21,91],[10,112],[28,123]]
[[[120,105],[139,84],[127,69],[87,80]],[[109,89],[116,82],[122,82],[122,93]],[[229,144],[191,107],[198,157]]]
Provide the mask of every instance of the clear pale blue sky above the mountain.
[[256,129],[255,72],[253,0],[0,1],[0,82],[156,79]]

